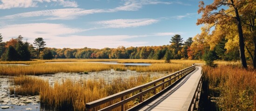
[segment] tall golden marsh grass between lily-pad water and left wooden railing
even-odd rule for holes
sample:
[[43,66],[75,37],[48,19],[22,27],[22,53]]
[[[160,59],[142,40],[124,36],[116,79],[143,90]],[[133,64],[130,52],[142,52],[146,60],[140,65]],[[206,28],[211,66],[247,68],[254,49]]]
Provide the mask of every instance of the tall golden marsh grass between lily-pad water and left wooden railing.
[[[129,88],[139,86],[159,78],[159,75],[151,76],[150,74],[131,76],[130,78],[116,78],[112,80],[112,84],[105,83],[104,79],[100,80],[83,80],[72,82],[71,80],[63,80],[62,84],[55,82],[54,86],[50,86],[48,81],[36,79],[29,76],[14,77],[16,94],[20,95],[40,95],[42,107],[55,108],[59,110],[85,111],[85,104],[106,96],[118,93]],[[128,98],[136,93],[127,95]],[[150,95],[150,94],[149,94]],[[144,99],[149,96],[145,95]],[[104,108],[112,103],[119,102],[120,99],[111,101],[104,105],[98,106],[95,110]],[[125,109],[138,104],[138,99],[125,104]],[[120,111],[120,107],[114,111]]]

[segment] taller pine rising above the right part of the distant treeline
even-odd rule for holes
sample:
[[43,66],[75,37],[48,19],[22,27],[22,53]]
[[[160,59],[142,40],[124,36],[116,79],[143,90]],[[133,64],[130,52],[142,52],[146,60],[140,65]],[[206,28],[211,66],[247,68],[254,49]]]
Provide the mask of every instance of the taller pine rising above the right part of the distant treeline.
[[175,35],[171,38],[170,43],[172,43],[172,47],[175,49],[175,53],[177,54],[178,51],[182,48],[183,45],[183,38],[180,37],[180,35]]

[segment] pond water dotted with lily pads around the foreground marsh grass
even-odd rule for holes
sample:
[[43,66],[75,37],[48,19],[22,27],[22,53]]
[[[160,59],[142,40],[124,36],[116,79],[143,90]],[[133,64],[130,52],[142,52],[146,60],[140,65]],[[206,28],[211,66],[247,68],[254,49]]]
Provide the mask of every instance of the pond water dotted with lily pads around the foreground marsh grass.
[[[102,79],[104,78],[105,82],[111,84],[114,78],[129,78],[131,76],[151,74],[152,76],[164,76],[165,73],[159,72],[136,72],[136,71],[115,71],[113,69],[100,71],[100,72],[89,72],[89,74],[82,73],[57,73],[57,74],[47,74],[47,75],[29,75],[36,78],[41,78],[43,80],[48,80],[51,86],[54,86],[55,81],[62,83],[63,80],[72,80],[72,81],[81,81],[88,79]],[[9,87],[13,85],[10,81],[9,76],[0,76],[0,111],[28,111],[31,108],[31,111],[46,111],[40,107],[39,96],[16,96],[9,95]],[[27,102],[28,101],[28,102]],[[9,106],[8,109],[1,109],[1,106]]]

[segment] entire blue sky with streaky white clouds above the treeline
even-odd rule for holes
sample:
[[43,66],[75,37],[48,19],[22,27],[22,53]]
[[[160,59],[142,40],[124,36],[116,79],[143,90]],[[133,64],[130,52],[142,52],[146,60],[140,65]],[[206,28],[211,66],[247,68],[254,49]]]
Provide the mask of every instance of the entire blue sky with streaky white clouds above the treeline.
[[0,0],[3,41],[42,37],[51,48],[170,44],[200,33],[200,0]]

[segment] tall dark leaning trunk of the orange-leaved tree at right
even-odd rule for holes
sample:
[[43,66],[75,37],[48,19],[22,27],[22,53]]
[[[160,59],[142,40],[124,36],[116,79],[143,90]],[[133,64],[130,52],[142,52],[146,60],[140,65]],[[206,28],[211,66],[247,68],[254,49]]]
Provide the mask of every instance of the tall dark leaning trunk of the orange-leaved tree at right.
[[[233,0],[231,0],[233,3]],[[243,68],[247,68],[247,63],[245,59],[245,54],[244,54],[244,40],[243,40],[243,33],[242,33],[242,25],[241,25],[241,19],[239,17],[239,13],[237,8],[234,6],[235,9],[235,19],[237,22],[237,29],[238,29],[238,34],[239,34],[239,51],[240,51],[240,61],[242,63]]]

